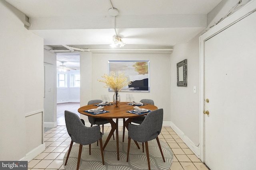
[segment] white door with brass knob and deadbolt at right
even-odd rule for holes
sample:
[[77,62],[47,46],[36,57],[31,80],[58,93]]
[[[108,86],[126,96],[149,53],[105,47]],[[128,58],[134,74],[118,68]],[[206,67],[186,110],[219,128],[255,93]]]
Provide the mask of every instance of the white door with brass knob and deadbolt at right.
[[205,42],[205,163],[252,170],[256,162],[256,12]]

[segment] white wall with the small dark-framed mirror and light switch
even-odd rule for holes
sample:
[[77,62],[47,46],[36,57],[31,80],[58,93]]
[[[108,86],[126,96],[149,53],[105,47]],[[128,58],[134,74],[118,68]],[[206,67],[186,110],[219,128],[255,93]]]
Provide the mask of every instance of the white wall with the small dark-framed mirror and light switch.
[[[171,122],[181,139],[199,154],[199,35],[174,46],[171,55]],[[178,87],[176,64],[187,59],[187,87]],[[196,86],[197,92],[193,92]],[[191,148],[192,149],[192,148]]]

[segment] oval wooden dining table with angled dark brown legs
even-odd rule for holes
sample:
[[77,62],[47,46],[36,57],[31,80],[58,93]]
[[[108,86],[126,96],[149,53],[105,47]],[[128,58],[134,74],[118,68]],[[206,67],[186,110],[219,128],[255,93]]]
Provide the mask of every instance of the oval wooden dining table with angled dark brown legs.
[[[94,115],[94,114],[85,112],[89,109],[94,109],[94,108],[98,107],[98,106],[95,106],[95,105],[96,104],[82,106],[78,109],[78,112],[83,114],[83,115],[92,116],[92,117],[95,117],[95,118],[104,118],[104,119],[107,119],[109,121],[109,123],[111,124],[111,131],[110,131],[110,133],[108,135],[108,138],[106,139],[106,142],[103,146],[103,150],[105,149],[106,145],[108,144],[108,141],[110,140],[111,136],[114,134],[114,131],[116,131],[117,160],[119,160],[118,119],[128,118],[125,121],[125,126],[128,129],[128,124],[131,123],[131,121],[134,117],[144,116],[144,115],[147,115],[149,112],[148,113],[143,113],[143,114],[140,114],[140,115],[137,115],[137,114],[134,114],[134,113],[128,113],[127,111],[133,110],[134,106],[128,105],[128,104],[126,104],[126,102],[121,102],[119,107],[115,107],[115,105],[104,106],[104,110],[109,111],[107,113],[100,113],[100,114]],[[138,107],[148,109],[148,110],[158,109],[156,106],[151,105],[151,104],[146,104],[144,106],[138,106]],[[116,122],[114,122],[113,119],[116,119]],[[123,137],[124,137],[124,133],[123,133]],[[136,143],[137,147],[140,149],[138,143],[136,141],[134,141],[134,142]]]

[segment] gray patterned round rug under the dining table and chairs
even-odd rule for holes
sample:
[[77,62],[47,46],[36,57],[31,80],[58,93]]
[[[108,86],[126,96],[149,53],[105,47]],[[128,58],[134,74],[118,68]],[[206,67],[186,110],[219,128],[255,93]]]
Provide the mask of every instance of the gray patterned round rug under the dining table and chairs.
[[[122,134],[122,132],[119,132]],[[102,143],[104,145],[108,133],[104,133],[102,137]],[[162,155],[160,153],[156,139],[148,141],[148,150],[150,156],[150,168],[152,170],[169,170],[173,162],[172,150],[168,144],[164,143],[159,139],[162,151],[164,154],[163,161]],[[91,146],[91,155],[89,155],[89,145],[83,146],[82,155],[80,160],[80,170],[147,170],[148,161],[146,156],[146,149],[144,145],[144,152],[142,152],[142,143],[139,143],[140,149],[138,149],[131,140],[130,153],[129,153],[129,162],[126,162],[127,158],[127,149],[128,149],[128,134],[126,133],[125,140],[122,142],[122,135],[119,135],[119,157],[120,160],[117,160],[116,153],[116,137],[113,140],[113,137],[108,142],[108,145],[103,151],[104,154],[104,163],[102,165],[102,158],[100,152],[100,143],[97,146],[97,142],[93,143]],[[79,144],[75,143],[71,149],[68,163],[64,168],[66,170],[76,170],[77,158],[78,158]],[[64,156],[63,162],[65,163],[68,152]],[[64,164],[63,163],[63,164]]]

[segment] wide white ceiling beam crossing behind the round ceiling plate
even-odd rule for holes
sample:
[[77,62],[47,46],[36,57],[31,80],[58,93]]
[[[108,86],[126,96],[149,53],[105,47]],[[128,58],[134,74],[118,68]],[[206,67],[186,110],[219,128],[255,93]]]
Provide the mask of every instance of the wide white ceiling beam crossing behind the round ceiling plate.
[[206,15],[132,15],[30,18],[30,30],[206,27]]

